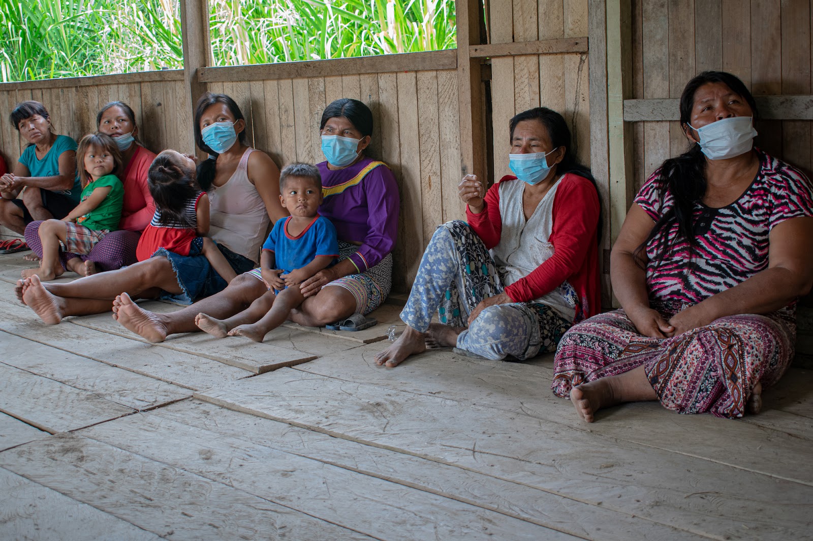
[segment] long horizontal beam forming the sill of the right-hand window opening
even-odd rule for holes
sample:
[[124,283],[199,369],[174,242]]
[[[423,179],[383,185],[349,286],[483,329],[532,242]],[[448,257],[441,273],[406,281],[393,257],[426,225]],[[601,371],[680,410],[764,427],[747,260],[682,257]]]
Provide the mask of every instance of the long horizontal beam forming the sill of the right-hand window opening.
[[355,75],[360,73],[386,73],[392,71],[454,70],[457,69],[457,50],[436,50],[426,53],[379,54],[358,58],[306,60],[252,66],[204,67],[198,70],[202,83],[237,80],[294,79]]

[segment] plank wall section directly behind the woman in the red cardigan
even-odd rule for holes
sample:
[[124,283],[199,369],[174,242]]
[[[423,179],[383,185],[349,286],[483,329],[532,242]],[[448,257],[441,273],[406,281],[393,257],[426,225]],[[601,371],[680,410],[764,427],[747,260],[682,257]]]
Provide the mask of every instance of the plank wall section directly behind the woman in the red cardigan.
[[[490,2],[490,42],[511,43],[588,35],[587,0]],[[546,106],[570,125],[580,161],[590,163],[587,54],[530,54],[491,59],[494,176],[508,169],[508,121]]]

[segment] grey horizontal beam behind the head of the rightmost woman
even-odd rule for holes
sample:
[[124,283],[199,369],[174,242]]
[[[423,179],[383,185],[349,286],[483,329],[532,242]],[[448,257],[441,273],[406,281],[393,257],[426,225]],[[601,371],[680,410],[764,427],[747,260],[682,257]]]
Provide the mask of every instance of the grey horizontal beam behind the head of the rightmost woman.
[[[813,120],[813,96],[754,96],[763,120]],[[625,122],[680,120],[680,100],[624,100]]]

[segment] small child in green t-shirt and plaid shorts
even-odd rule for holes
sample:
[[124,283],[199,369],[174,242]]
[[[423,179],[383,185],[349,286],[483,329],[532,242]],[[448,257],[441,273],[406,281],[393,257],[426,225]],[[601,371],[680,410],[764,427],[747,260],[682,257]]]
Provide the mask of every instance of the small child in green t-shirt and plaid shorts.
[[[102,133],[82,137],[76,149],[76,163],[82,182],[81,202],[63,219],[50,219],[37,231],[42,243],[42,258],[37,269],[23,271],[23,278],[39,276],[46,282],[62,275],[59,243],[70,253],[90,253],[99,240],[119,228],[124,205],[124,185],[113,173],[121,171],[121,153],[110,136]],[[80,258],[67,260],[71,271],[93,273],[93,262]]]

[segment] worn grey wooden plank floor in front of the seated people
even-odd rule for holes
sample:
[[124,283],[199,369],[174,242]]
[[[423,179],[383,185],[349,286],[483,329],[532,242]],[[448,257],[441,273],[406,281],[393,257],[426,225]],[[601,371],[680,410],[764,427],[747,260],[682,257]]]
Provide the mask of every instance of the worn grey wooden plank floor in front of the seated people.
[[393,305],[363,334],[147,344],[109,314],[43,325],[13,293],[30,265],[0,256],[0,539],[813,536],[811,370],[738,421],[587,425],[550,355],[375,366]]

